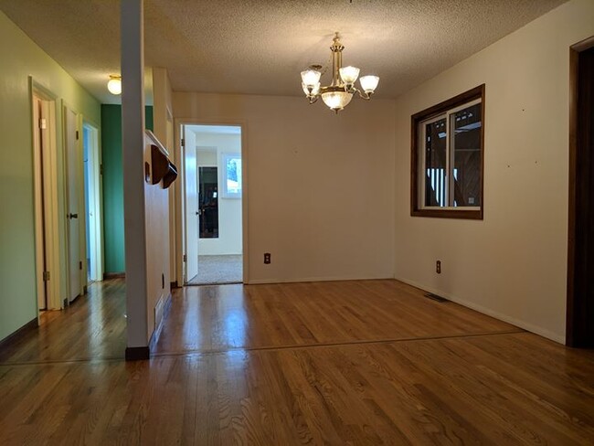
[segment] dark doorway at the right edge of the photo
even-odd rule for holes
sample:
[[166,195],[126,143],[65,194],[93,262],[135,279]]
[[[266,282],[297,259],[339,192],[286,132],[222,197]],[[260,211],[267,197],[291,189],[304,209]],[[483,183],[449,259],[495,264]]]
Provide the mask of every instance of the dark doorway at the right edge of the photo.
[[594,37],[571,48],[566,344],[594,347]]

